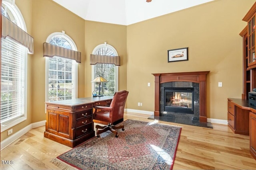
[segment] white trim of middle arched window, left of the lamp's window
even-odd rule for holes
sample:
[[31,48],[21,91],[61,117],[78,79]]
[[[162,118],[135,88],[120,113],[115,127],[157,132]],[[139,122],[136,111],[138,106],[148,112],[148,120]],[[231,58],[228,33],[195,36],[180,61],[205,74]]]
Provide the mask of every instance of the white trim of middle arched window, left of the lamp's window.
[[[49,43],[50,42],[50,39],[56,35],[60,35],[62,37],[64,37],[65,39],[67,39],[69,42],[70,42],[70,45],[72,47],[72,50],[76,50],[77,51],[77,47],[76,47],[76,43],[73,41],[72,38],[70,38],[68,35],[65,34],[65,31],[62,31],[62,32],[54,32],[54,33],[51,33],[47,39],[46,39],[46,43]],[[48,78],[48,75],[49,75],[49,57],[45,57],[45,101],[48,102],[49,101],[49,96],[48,96],[48,91],[49,91],[49,78]],[[78,63],[76,61],[73,61],[75,62],[75,68],[74,68],[74,74],[75,74],[75,77],[74,77],[74,82],[75,82],[75,87],[74,87],[74,91],[75,91],[75,98],[77,98],[78,96]],[[45,109],[45,113],[46,113],[46,109]]]

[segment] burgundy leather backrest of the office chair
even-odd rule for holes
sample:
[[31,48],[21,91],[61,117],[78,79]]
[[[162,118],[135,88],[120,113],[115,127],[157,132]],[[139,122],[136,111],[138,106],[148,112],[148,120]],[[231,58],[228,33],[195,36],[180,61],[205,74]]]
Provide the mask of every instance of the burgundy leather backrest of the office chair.
[[112,107],[112,111],[110,111],[110,119],[112,119],[111,123],[118,121],[124,117],[124,106],[128,96],[128,91],[121,90],[119,92],[115,92],[110,107]]

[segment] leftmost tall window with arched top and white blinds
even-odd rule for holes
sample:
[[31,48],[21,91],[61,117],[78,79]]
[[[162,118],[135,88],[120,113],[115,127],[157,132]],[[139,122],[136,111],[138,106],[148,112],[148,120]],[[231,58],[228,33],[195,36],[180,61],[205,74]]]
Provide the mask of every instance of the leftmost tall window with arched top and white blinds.
[[[22,14],[11,0],[2,1],[2,15],[26,31]],[[28,49],[9,37],[2,38],[1,132],[26,120]]]

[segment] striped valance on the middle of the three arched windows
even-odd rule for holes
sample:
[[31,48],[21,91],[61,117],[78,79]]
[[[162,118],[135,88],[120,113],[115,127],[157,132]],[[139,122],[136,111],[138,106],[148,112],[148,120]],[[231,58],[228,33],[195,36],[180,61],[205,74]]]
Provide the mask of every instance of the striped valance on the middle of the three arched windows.
[[52,45],[49,43],[44,43],[44,57],[65,57],[68,59],[73,59],[77,63],[81,63],[81,53],[71,49],[66,49],[57,45]]

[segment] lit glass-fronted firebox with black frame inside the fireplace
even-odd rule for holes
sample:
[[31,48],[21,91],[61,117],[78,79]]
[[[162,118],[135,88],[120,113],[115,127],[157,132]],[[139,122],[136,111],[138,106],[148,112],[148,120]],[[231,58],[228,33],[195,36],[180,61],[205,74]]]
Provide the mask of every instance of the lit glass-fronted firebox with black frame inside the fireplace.
[[194,88],[164,88],[164,111],[194,114]]

